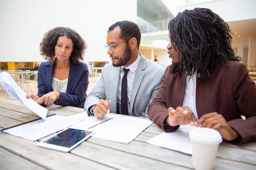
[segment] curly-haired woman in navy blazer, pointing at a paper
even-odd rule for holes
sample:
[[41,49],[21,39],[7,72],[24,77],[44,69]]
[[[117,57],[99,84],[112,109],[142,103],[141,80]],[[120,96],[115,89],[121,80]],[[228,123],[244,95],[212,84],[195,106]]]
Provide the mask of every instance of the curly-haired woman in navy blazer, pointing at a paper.
[[83,63],[87,45],[76,31],[56,27],[45,33],[40,54],[47,62],[38,68],[38,94],[28,93],[38,104],[83,108],[88,88],[88,66]]

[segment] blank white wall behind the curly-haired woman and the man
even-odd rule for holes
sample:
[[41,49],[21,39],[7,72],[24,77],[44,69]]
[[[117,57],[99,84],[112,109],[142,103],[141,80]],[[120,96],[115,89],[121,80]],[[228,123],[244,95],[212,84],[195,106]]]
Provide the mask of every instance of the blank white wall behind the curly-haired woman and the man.
[[85,61],[110,61],[108,27],[137,22],[137,0],[0,0],[0,62],[40,62],[46,31],[66,26],[88,44]]

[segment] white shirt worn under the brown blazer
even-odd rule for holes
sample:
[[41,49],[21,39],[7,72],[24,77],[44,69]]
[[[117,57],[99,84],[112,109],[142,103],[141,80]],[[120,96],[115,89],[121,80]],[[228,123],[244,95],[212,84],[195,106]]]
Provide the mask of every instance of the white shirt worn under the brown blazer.
[[198,113],[195,105],[196,77],[196,73],[191,77],[191,79],[186,77],[185,95],[182,106],[187,106],[194,113],[195,118],[198,119]]

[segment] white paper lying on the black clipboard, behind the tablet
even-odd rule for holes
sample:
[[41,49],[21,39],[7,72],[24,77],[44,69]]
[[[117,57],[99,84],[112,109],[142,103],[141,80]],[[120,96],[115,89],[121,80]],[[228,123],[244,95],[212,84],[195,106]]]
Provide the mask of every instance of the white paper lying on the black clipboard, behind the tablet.
[[31,141],[36,141],[38,139],[51,135],[54,132],[58,132],[69,126],[77,124],[82,120],[83,119],[76,117],[52,115],[47,117],[45,120],[39,119],[1,131]]

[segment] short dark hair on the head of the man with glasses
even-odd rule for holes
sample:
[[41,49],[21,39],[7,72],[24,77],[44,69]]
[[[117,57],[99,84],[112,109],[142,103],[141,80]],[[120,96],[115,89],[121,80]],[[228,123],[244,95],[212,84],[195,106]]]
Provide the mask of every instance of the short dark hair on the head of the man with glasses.
[[[108,32],[115,29],[115,27],[119,26],[121,33],[120,38],[124,40],[129,40],[132,37],[135,37],[137,39],[137,48],[139,49],[140,39],[141,39],[141,33],[139,26],[131,21],[118,21],[115,24],[112,24],[108,28]],[[126,41],[126,44],[128,44],[128,41]]]

